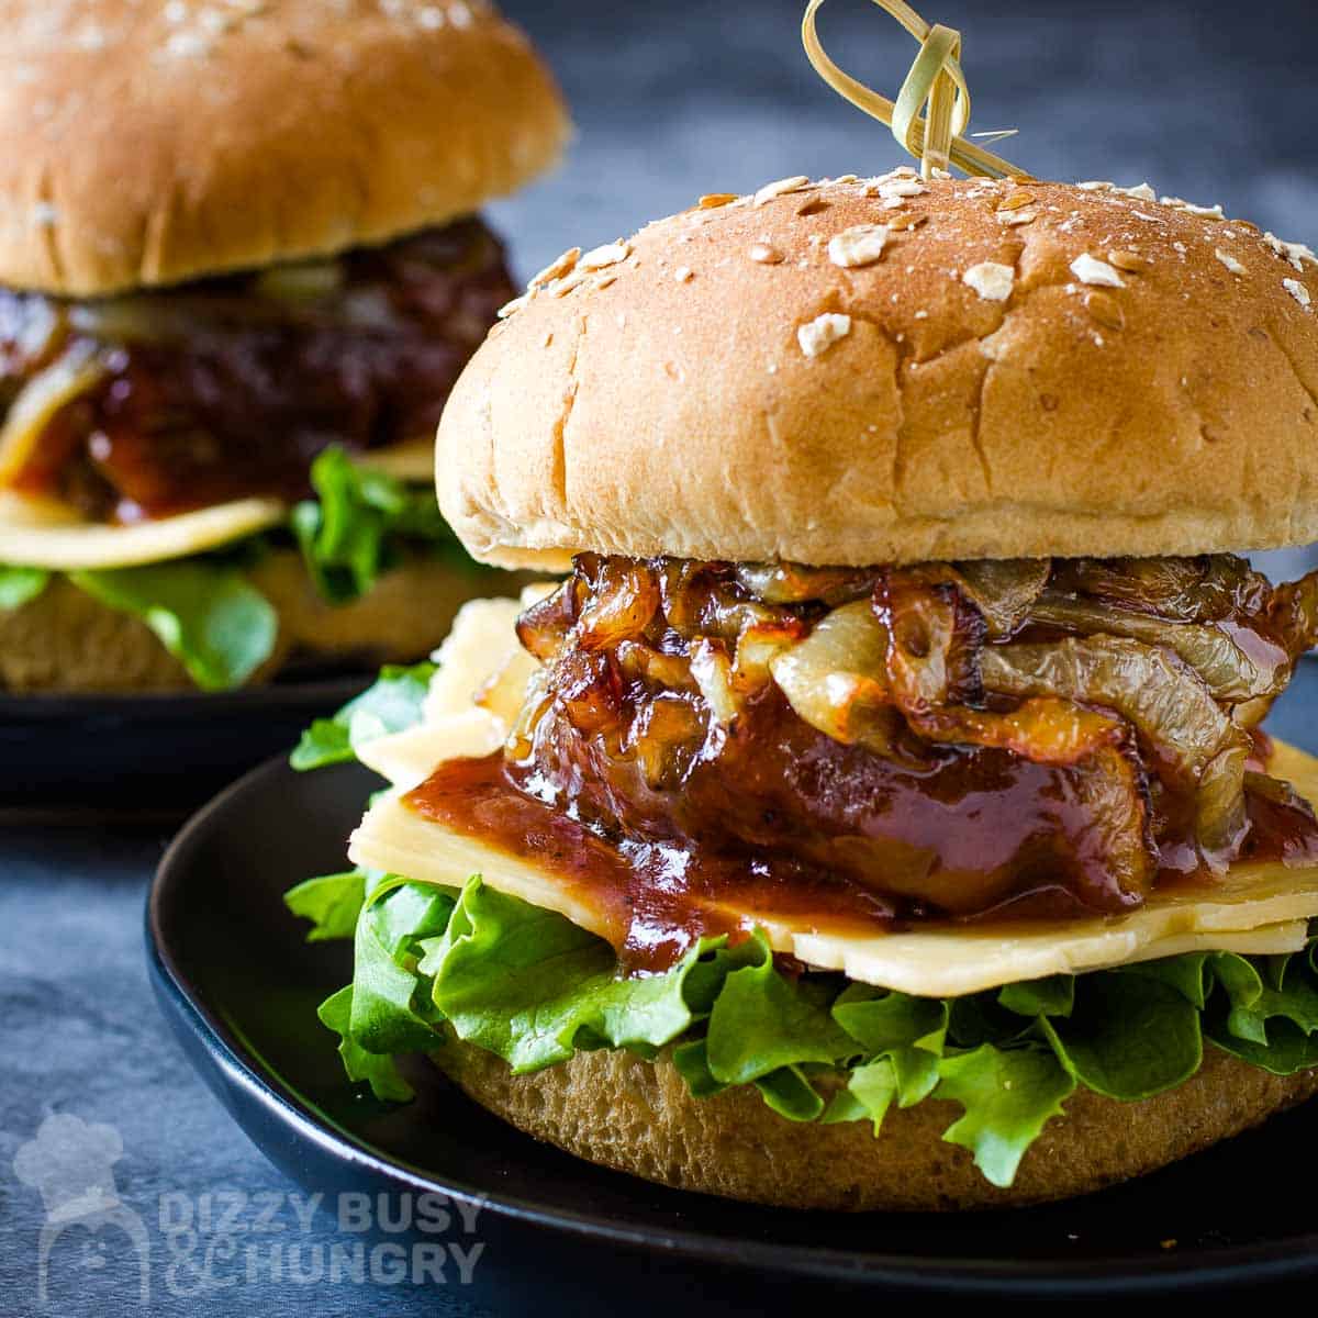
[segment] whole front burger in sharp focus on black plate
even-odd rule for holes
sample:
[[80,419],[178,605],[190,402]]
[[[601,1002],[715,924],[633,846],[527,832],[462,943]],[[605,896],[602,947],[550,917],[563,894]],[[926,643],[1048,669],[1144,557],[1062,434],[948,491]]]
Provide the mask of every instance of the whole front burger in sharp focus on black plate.
[[[569,253],[476,353],[486,563],[322,1017],[536,1139],[799,1209],[1074,1195],[1318,1089],[1318,262],[1141,185],[805,178]],[[407,726],[402,726],[406,724]],[[456,1118],[455,1118],[456,1119]]]

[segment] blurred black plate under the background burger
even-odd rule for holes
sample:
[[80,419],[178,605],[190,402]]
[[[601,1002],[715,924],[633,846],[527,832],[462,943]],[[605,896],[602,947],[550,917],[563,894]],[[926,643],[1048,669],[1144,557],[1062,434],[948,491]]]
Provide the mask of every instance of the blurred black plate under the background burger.
[[357,672],[215,693],[0,696],[0,813],[179,818],[372,680]]

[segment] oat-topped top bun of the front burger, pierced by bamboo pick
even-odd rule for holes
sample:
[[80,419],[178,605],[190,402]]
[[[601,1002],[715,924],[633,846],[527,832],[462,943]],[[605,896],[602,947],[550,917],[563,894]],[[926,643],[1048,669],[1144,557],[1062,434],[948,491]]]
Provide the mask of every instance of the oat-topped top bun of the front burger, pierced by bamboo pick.
[[1318,262],[1147,186],[787,179],[519,301],[439,434],[490,563],[1318,538]]

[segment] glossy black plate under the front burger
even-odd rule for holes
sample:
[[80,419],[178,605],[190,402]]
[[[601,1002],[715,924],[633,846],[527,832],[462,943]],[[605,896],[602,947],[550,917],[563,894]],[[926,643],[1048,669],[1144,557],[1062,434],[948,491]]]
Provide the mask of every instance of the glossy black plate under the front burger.
[[[1070,1203],[953,1217],[822,1215],[667,1190],[579,1162],[503,1126],[418,1060],[418,1102],[385,1107],[344,1081],[318,1002],[347,982],[345,944],[303,942],[279,895],[341,867],[378,786],[353,766],[273,762],[196,816],[150,895],[157,995],[206,1081],[312,1190],[439,1190],[484,1201],[500,1247],[477,1272],[501,1302],[559,1288],[588,1304],[627,1286],[633,1313],[763,1311],[812,1293],[1111,1294],[1220,1288],[1318,1271],[1307,1186],[1314,1112],[1277,1118],[1143,1181]],[[1286,1186],[1297,1193],[1286,1193]],[[489,1235],[486,1236],[489,1239]],[[1174,1247],[1164,1244],[1174,1242]],[[515,1267],[513,1263],[515,1261]],[[645,1286],[637,1281],[645,1272]],[[588,1305],[589,1306],[589,1305]]]

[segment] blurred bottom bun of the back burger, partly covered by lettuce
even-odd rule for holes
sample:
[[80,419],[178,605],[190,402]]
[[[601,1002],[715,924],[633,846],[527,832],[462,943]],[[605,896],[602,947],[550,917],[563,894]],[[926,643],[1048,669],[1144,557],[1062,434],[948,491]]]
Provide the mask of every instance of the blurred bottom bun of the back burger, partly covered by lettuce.
[[[489,569],[464,572],[413,559],[385,573],[360,600],[333,606],[316,594],[301,556],[291,550],[266,555],[249,575],[279,616],[274,652],[250,684],[268,681],[291,664],[376,667],[423,659],[448,635],[459,606],[473,594],[490,593],[496,576]],[[186,689],[195,689],[195,683],[144,622],[100,604],[62,576],[29,604],[0,610],[0,691]]]

